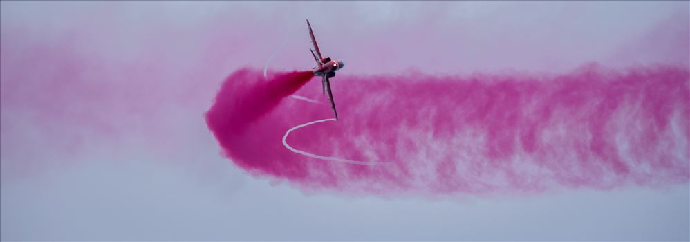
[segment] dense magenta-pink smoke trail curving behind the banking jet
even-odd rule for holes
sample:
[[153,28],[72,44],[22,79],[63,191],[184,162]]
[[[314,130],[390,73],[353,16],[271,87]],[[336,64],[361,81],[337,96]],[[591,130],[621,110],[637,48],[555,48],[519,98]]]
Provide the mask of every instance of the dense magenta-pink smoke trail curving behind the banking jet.
[[[299,76],[299,77],[298,77]],[[304,79],[304,78],[306,79]],[[292,147],[368,166],[292,153],[281,137],[330,109],[284,99],[310,75],[242,69],[207,113],[225,156],[255,176],[308,190],[376,194],[539,192],[687,183],[687,69],[586,66],[555,76],[358,77],[333,81],[342,119],[290,133]],[[312,82],[303,95],[316,97]]]

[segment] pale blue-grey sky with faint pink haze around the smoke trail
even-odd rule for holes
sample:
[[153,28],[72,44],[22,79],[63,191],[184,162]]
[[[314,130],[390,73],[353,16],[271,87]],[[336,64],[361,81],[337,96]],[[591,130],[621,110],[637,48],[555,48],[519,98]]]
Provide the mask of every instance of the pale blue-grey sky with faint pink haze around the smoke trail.
[[[550,76],[593,63],[687,72],[689,8],[1,1],[0,239],[687,241],[690,171],[674,183],[525,194],[305,189],[223,156],[204,115],[241,68],[312,67],[304,19],[321,51],[346,62],[342,80]],[[336,95],[347,88],[335,82]]]

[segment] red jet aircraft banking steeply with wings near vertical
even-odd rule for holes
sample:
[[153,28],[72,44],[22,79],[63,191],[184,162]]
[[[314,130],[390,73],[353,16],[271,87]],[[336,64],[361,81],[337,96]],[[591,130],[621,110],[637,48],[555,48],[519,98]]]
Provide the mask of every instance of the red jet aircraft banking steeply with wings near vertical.
[[[338,112],[335,111],[335,102],[333,102],[333,93],[330,92],[330,81],[329,79],[335,77],[335,71],[342,69],[345,64],[342,60],[331,60],[330,57],[321,57],[321,50],[319,50],[319,45],[316,44],[316,38],[314,37],[314,32],[311,30],[311,24],[309,24],[309,19],[307,19],[307,26],[309,27],[309,35],[311,36],[311,42],[314,44],[314,50],[311,48],[311,55],[314,57],[317,66],[314,69],[314,75],[322,77],[321,85],[324,87],[324,95],[328,91],[328,100],[330,100],[330,107],[333,108],[333,113],[335,114],[335,120],[338,120]],[[317,57],[318,55],[318,57]]]

